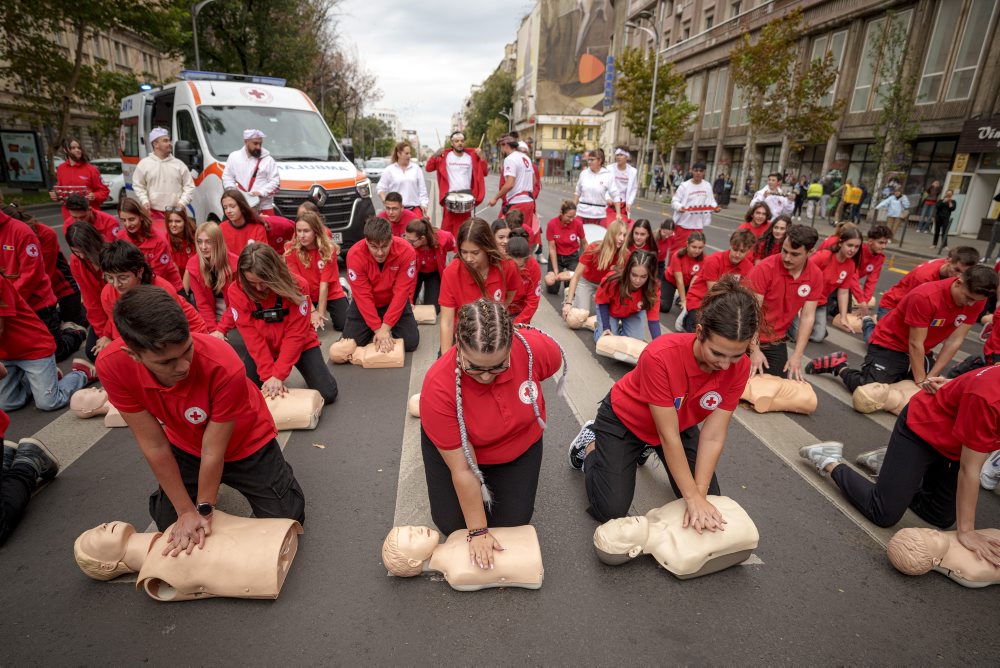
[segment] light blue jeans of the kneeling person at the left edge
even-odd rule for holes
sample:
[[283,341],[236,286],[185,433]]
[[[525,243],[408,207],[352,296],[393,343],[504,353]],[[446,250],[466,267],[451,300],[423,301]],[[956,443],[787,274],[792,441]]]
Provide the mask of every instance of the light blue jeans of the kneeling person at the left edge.
[[16,411],[35,399],[35,407],[54,411],[69,403],[70,396],[87,384],[87,377],[70,371],[58,380],[55,355],[38,360],[3,360],[7,377],[0,380],[0,410]]

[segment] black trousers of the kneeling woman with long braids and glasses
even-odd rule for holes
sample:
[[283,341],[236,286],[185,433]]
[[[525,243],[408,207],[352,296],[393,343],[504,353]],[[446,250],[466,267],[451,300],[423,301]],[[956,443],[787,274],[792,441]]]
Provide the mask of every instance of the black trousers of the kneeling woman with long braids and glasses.
[[[434,525],[445,536],[459,529],[479,529],[466,526],[455,484],[451,480],[451,469],[423,428],[420,429],[420,450],[424,457],[424,476],[427,478],[427,495]],[[514,461],[484,464],[479,468],[493,494],[493,505],[486,511],[487,526],[529,524],[535,512],[538,472],[542,468],[542,439],[535,441]]]

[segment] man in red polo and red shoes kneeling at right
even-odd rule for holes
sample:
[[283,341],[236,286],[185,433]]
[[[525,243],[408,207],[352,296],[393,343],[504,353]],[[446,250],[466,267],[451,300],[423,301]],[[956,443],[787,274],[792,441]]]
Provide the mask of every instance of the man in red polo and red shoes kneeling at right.
[[[878,321],[860,371],[849,369],[847,353],[837,351],[814,359],[807,373],[832,373],[851,392],[860,385],[895,383],[908,377],[924,386],[928,379],[942,375],[975,324],[982,302],[996,289],[996,272],[983,265],[955,278],[925,283]],[[942,342],[933,360],[931,350]]]

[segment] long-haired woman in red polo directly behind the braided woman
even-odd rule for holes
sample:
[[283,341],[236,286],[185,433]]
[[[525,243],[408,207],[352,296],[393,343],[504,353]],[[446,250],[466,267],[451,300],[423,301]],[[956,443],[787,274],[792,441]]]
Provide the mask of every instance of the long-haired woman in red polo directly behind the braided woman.
[[521,278],[517,265],[497,247],[490,224],[470,218],[458,228],[458,258],[441,275],[441,352],[454,343],[455,312],[479,298],[510,306]]

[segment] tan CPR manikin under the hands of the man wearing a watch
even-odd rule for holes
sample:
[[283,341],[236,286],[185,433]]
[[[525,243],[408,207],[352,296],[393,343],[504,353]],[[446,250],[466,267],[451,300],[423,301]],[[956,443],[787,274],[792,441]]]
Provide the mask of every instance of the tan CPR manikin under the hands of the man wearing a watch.
[[234,517],[212,513],[204,548],[163,556],[172,526],[161,533],[136,533],[110,522],[80,534],[73,556],[86,575],[112,580],[138,573],[137,586],[158,601],[198,598],[278,598],[298,550],[302,526],[289,519]]

